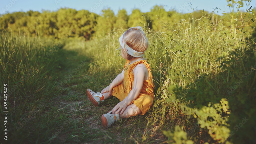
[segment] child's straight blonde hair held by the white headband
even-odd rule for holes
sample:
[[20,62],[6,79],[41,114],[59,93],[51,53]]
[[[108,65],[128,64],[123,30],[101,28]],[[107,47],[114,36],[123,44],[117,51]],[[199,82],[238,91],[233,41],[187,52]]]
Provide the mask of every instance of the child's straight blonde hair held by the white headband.
[[[124,41],[126,44],[137,52],[144,52],[147,50],[149,43],[147,37],[142,30],[142,27],[131,27],[124,32]],[[127,52],[126,52],[127,53]],[[128,53],[127,53],[128,54]],[[135,57],[128,54],[128,60]],[[143,58],[144,59],[144,58]]]

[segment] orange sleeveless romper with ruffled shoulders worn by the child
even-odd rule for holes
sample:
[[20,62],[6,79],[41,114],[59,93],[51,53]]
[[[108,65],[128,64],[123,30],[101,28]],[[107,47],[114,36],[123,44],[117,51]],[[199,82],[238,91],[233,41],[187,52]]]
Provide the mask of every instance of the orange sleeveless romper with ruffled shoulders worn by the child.
[[150,71],[150,65],[146,62],[146,60],[140,60],[130,65],[129,63],[130,61],[127,60],[124,65],[124,81],[113,88],[113,96],[117,97],[120,101],[123,101],[123,99],[125,99],[132,90],[134,80],[134,75],[132,73],[133,69],[136,67],[137,64],[145,64],[148,69],[149,79],[144,80],[141,93],[134,101],[132,101],[132,103],[140,108],[140,110],[142,111],[141,114],[144,115],[150,108],[150,106],[152,106],[154,101],[155,86],[153,84],[153,75]]

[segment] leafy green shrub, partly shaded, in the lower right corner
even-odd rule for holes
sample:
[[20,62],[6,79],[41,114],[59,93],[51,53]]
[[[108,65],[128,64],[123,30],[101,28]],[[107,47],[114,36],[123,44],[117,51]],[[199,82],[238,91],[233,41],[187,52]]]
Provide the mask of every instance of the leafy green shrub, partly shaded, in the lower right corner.
[[[207,128],[214,141],[253,143],[256,96],[255,32],[246,48],[236,48],[230,57],[222,57],[222,71],[200,76],[186,87],[169,87],[167,102],[179,102],[186,115],[196,118],[201,129]],[[218,83],[216,81],[218,80]],[[197,131],[198,132],[198,131]]]

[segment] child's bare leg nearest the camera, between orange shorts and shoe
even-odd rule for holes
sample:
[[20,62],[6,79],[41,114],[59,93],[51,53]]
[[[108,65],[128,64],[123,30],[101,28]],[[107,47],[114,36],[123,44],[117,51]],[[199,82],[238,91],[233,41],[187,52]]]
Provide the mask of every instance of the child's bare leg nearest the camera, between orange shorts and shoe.
[[126,107],[126,109],[124,110],[122,115],[119,114],[119,117],[120,118],[128,118],[131,116],[139,115],[141,113],[142,112],[141,112],[140,108],[138,108],[135,104],[131,104]]

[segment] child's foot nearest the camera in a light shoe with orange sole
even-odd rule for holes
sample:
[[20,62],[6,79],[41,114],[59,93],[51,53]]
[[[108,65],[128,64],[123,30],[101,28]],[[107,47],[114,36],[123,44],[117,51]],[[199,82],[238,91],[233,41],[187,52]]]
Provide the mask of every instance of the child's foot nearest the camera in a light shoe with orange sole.
[[119,114],[112,113],[112,111],[109,111],[107,114],[103,114],[101,116],[101,121],[104,128],[111,127],[111,125],[119,119]]

